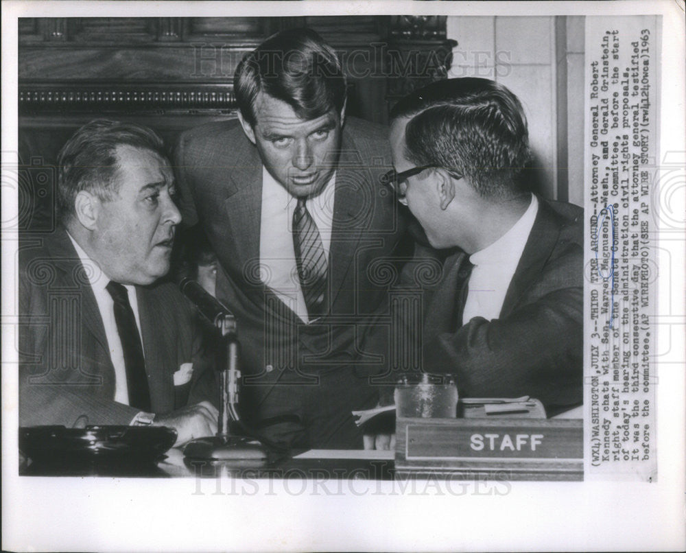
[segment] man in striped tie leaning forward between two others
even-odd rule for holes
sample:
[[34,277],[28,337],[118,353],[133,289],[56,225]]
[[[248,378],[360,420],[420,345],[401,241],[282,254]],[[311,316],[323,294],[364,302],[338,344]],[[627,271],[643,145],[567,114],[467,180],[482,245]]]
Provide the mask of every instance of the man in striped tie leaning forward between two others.
[[237,318],[241,412],[294,447],[362,448],[385,351],[365,344],[388,309],[375,261],[402,257],[405,222],[376,183],[386,131],[346,117],[340,60],[315,32],[276,34],[236,69],[238,121],[182,134],[182,214],[220,262],[217,297]]

